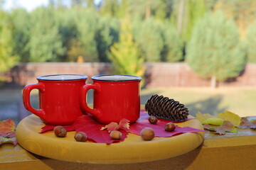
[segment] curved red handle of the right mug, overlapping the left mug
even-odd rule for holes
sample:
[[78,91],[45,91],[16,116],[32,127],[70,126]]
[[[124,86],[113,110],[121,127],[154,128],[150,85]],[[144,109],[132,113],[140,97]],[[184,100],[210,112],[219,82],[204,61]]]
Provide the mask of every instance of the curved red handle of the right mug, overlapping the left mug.
[[87,91],[90,89],[94,89],[97,92],[100,92],[100,84],[85,84],[84,86],[82,86],[81,90],[81,95],[80,95],[80,101],[81,101],[81,106],[82,109],[87,111],[88,113],[91,113],[92,115],[99,115],[100,111],[98,111],[97,109],[92,109],[89,108],[87,106],[87,102],[86,102],[86,96],[85,94],[87,94]]

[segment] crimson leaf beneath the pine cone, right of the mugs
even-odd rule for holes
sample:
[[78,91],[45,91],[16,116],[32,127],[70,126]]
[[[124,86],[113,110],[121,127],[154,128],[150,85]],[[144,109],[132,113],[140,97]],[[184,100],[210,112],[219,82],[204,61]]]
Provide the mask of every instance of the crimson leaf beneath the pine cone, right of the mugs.
[[205,130],[199,130],[191,127],[181,128],[178,125],[176,125],[176,129],[174,131],[167,132],[166,130],[164,130],[164,126],[166,125],[166,123],[174,122],[174,121],[159,119],[157,124],[151,124],[149,123],[148,118],[149,118],[149,115],[147,115],[147,113],[141,112],[140,118],[137,121],[137,123],[133,123],[132,125],[130,125],[129,132],[134,133],[136,135],[140,135],[140,132],[142,131],[142,129],[146,127],[152,128],[155,132],[156,137],[171,137],[173,135],[178,135],[184,132],[206,132]]

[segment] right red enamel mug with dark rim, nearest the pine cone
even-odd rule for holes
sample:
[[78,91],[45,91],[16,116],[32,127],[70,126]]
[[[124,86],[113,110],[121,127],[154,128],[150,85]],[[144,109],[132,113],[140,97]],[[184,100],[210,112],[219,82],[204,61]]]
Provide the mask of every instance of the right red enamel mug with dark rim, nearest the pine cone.
[[[102,124],[119,123],[123,118],[134,123],[139,118],[141,80],[141,77],[119,74],[92,77],[93,84],[82,86],[82,109]],[[94,109],[86,104],[85,94],[89,89],[94,89]]]

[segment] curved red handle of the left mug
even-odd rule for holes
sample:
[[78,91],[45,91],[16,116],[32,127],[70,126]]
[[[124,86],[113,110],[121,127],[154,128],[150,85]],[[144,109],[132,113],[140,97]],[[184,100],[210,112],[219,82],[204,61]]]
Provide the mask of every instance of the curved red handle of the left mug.
[[39,118],[46,118],[46,113],[43,111],[43,109],[36,110],[31,106],[30,102],[30,94],[33,89],[38,89],[39,91],[43,92],[45,91],[45,87],[43,84],[28,84],[23,89],[23,104],[25,108],[30,111],[31,113],[37,115]]

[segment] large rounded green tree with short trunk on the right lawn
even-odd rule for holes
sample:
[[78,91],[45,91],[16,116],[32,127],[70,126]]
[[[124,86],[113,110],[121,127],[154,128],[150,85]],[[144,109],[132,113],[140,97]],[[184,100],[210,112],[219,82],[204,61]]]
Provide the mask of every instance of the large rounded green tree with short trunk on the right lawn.
[[196,24],[186,49],[186,61],[201,77],[217,81],[237,77],[245,67],[239,32],[222,11],[208,13]]

